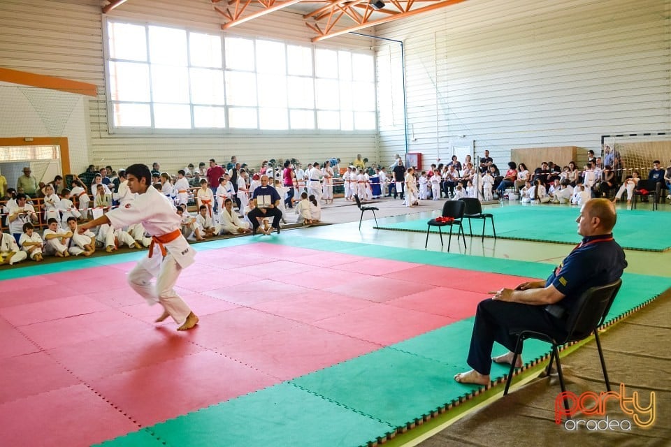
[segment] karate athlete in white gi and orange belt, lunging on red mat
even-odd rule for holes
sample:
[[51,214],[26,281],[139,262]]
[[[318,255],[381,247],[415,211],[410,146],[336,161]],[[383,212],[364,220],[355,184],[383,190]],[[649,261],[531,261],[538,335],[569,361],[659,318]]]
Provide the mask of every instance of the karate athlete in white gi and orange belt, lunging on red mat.
[[[126,175],[129,189],[132,193],[138,193],[135,200],[97,219],[82,223],[79,232],[83,233],[103,223],[122,228],[141,222],[152,235],[152,244],[147,257],[129,273],[128,282],[149,305],[158,302],[163,306],[164,312],[156,319],[157,322],[171,316],[179,325],[177,330],[189,330],[198,323],[198,317],[173,287],[182,269],[194,263],[196,253],[182,235],[181,218],[175,213],[170,200],[151,186],[152,174],[149,168],[143,164],[134,164],[127,168]],[[150,282],[152,277],[156,278],[156,284]]]

